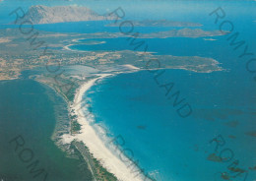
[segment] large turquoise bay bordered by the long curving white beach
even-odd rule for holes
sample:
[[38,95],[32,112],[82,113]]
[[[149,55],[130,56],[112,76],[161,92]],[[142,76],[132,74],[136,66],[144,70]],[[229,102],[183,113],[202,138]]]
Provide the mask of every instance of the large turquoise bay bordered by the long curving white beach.
[[[141,168],[157,173],[158,180],[215,180],[215,174],[228,172],[227,166],[235,159],[252,180],[256,175],[249,167],[255,166],[255,137],[246,133],[255,130],[256,87],[229,76],[227,72],[166,70],[159,81],[174,83],[171,92],[180,91],[180,99],[190,103],[193,112],[187,118],[177,114],[173,99],[167,99],[166,91],[148,71],[105,79],[85,99],[96,124],[108,128],[110,137],[121,136],[125,141],[122,148],[132,150]],[[225,141],[219,153],[230,149],[234,154],[229,162],[207,159],[216,147],[210,141],[219,135]],[[230,152],[223,156],[231,156]],[[216,180],[223,179],[217,176]]]

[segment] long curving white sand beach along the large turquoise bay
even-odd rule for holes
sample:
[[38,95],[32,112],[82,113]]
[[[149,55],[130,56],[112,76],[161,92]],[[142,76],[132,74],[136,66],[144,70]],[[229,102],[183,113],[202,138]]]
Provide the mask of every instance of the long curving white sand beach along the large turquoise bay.
[[[101,74],[99,78],[87,82],[77,91],[75,102],[71,109],[74,109],[75,114],[78,116],[78,122],[82,125],[81,131],[80,134],[75,136],[63,136],[63,141],[66,143],[70,143],[73,140],[82,141],[89,148],[90,152],[94,154],[94,157],[100,161],[101,165],[106,168],[107,171],[113,173],[118,180],[142,181],[142,176],[138,176],[138,172],[134,171],[137,170],[134,165],[128,168],[127,165],[118,158],[118,155],[115,155],[104,146],[104,143],[98,138],[95,129],[89,124],[89,120],[82,111],[81,102],[83,101],[83,94],[94,86],[96,80],[103,79],[107,76],[110,76],[110,74]],[[133,171],[131,169],[133,169]]]

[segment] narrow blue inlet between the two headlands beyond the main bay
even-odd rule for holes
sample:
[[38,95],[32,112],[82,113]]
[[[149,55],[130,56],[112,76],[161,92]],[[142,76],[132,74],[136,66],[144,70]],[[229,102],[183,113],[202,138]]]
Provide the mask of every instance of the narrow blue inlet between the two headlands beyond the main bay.
[[[205,56],[210,56],[214,54],[215,49],[220,48],[220,42],[218,40],[223,40],[222,37],[213,37],[217,39],[216,41],[208,41],[205,38],[188,38],[188,37],[169,37],[169,38],[137,38],[131,43],[131,38],[127,37],[118,37],[118,38],[94,38],[94,39],[85,39],[87,40],[96,40],[104,41],[105,43],[100,44],[77,44],[70,46],[71,49],[76,50],[108,50],[108,51],[120,51],[120,50],[137,50],[144,51],[145,46],[148,45],[148,52],[155,52],[160,55],[176,55],[176,56],[195,56],[202,55],[205,53]],[[138,42],[144,42],[143,45],[136,48]],[[208,50],[208,51],[207,51]],[[211,51],[210,51],[211,50]],[[208,53],[208,54],[207,54]]]

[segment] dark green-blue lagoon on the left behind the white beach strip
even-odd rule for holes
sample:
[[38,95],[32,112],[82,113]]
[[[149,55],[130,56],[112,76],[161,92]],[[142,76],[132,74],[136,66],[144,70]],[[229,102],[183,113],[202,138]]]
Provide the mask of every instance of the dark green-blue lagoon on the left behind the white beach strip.
[[[32,80],[0,82],[0,175],[7,180],[16,176],[18,180],[43,180],[46,172],[50,181],[91,179],[88,170],[79,171],[81,162],[66,157],[51,140],[58,117],[54,104],[65,106],[65,102],[49,97],[56,97],[55,92]],[[21,145],[24,142],[17,151],[16,141],[10,143],[15,138]],[[34,169],[45,171],[33,177],[36,173],[30,171],[35,170],[28,166],[36,160]]]

